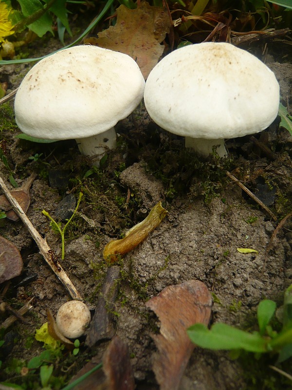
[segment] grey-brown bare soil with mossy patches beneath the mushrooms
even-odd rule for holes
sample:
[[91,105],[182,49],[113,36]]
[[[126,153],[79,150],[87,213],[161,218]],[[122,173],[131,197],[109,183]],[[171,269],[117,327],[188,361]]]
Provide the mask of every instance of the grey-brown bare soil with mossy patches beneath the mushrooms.
[[[291,46],[267,42],[271,55],[264,58],[261,50],[265,43],[249,49],[267,62],[279,80],[283,101],[291,102]],[[36,41],[29,51],[35,57],[59,46],[55,39],[47,40],[46,47],[43,41]],[[8,82],[8,92],[20,84],[31,66],[4,67],[0,78]],[[27,215],[58,259],[60,236],[41,211],[45,209],[57,219],[55,211],[66,195],[77,198],[80,191],[84,194],[65,234],[62,266],[92,313],[110,267],[103,259],[104,246],[143,220],[158,201],[164,201],[166,218],[119,261],[114,328],[128,345],[137,389],[159,388],[151,366],[156,351],[151,334],[159,331],[159,321],[145,302],[166,286],[190,279],[204,282],[214,300],[211,323],[224,322],[245,330],[256,329],[260,300],[269,298],[281,306],[284,289],[292,279],[291,219],[277,232],[271,251],[266,251],[277,224],[292,211],[292,137],[279,127],[279,118],[255,135],[273,152],[273,158],[251,137],[243,137],[227,140],[230,159],[199,161],[192,151],[184,150],[183,138],[159,129],[142,104],[117,125],[118,149],[109,153],[100,169],[92,169],[90,159],[80,156],[74,140],[40,144],[16,138],[20,131],[14,122],[13,101],[0,107],[0,115],[1,149],[18,185],[25,183],[32,172],[38,174],[30,191]],[[37,161],[29,159],[36,154],[42,154]],[[225,175],[226,169],[261,196],[277,219],[242,192]],[[2,161],[0,171],[8,182],[11,172]],[[74,202],[67,208],[74,208]],[[23,273],[11,280],[5,295],[5,283],[0,286],[2,299],[19,308],[34,297],[33,309],[25,315],[28,324],[17,322],[9,329],[17,342],[2,357],[1,380],[13,381],[14,375],[5,373],[11,358],[28,361],[43,350],[42,344],[33,339],[35,330],[47,321],[47,308],[55,315],[70,297],[22,222],[1,219],[0,235],[16,245],[24,261]],[[237,248],[252,248],[258,253],[241,254]],[[36,277],[17,287],[29,275]],[[2,314],[3,319],[8,315]],[[109,343],[101,340],[94,348],[81,347],[74,363],[63,363],[62,374],[67,370],[67,379],[72,377],[91,356],[101,361]],[[268,367],[274,364],[274,357],[256,360],[252,355],[244,356],[232,360],[225,351],[195,348],[180,389],[289,388],[283,377]]]

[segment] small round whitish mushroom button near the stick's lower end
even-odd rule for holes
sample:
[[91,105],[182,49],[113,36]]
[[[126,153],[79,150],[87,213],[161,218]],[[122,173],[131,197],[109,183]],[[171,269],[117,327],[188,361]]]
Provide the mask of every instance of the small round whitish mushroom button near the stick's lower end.
[[82,336],[90,321],[90,311],[86,304],[81,301],[64,303],[56,315],[56,324],[59,331],[68,338]]

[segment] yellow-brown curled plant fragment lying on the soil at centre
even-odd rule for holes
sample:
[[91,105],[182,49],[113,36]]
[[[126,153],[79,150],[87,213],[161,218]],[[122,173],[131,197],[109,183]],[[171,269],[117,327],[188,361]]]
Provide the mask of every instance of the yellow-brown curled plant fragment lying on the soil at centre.
[[110,259],[111,262],[117,260],[118,255],[123,255],[136,248],[147,235],[152,232],[160,222],[165,218],[167,210],[162,207],[161,202],[158,202],[146,216],[146,218],[133,226],[125,235],[119,240],[110,241],[104,248],[104,258]]

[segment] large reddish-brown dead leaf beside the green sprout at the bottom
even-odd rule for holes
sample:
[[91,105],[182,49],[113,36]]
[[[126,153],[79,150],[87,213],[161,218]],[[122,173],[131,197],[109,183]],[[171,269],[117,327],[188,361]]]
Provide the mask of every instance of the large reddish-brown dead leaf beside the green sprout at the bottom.
[[160,334],[152,336],[158,352],[153,356],[153,371],[160,390],[177,390],[194,345],[186,330],[195,323],[207,325],[212,298],[199,280],[165,287],[146,302],[161,322]]

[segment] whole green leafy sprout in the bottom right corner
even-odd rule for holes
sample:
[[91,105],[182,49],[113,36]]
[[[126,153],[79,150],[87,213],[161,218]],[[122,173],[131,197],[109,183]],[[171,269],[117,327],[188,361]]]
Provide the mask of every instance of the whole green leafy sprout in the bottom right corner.
[[283,326],[274,331],[270,321],[276,303],[264,299],[257,306],[258,331],[248,332],[223,323],[214,324],[209,330],[203,324],[194,324],[187,333],[193,343],[211,350],[245,350],[256,353],[278,353],[278,362],[292,356],[292,285],[284,294]]

